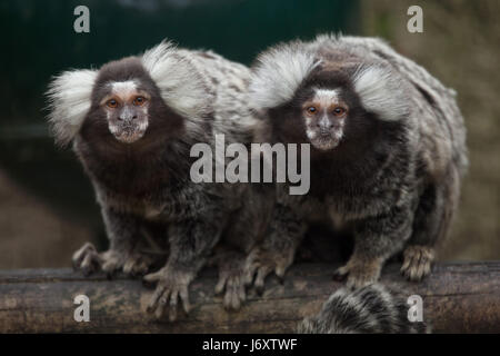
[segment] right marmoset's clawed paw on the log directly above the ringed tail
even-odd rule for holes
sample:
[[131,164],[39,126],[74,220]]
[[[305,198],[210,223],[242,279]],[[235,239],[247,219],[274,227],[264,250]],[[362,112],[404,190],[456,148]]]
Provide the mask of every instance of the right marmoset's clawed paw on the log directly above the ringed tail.
[[347,287],[351,289],[362,288],[376,283],[380,278],[382,261],[379,259],[361,259],[351,257],[349,261],[333,273],[333,279],[347,279]]

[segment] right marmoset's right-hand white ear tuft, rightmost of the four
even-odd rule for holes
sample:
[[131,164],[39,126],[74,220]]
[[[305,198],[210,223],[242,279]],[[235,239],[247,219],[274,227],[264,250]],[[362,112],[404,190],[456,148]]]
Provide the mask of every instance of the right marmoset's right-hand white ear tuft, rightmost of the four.
[[367,111],[397,121],[410,112],[403,79],[384,66],[361,66],[353,75],[354,91]]

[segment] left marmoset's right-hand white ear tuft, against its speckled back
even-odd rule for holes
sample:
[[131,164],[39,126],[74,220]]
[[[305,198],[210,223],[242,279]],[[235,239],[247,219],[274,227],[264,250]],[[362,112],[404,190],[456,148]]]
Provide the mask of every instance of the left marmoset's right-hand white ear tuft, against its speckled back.
[[169,41],[162,41],[146,51],[141,61],[160,89],[164,102],[178,113],[194,118],[208,110],[211,96],[188,53]]

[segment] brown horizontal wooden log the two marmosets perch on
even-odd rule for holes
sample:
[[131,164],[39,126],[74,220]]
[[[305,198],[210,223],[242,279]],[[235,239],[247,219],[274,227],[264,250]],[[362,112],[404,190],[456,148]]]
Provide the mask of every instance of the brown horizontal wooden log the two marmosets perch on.
[[[0,271],[0,333],[293,333],[298,322],[319,310],[341,284],[336,266],[293,266],[283,284],[268,280],[262,296],[250,293],[240,312],[226,312],[214,297],[214,270],[191,286],[193,310],[178,322],[157,322],[147,313],[152,293],[139,279],[83,277],[70,269]],[[424,320],[440,333],[500,333],[500,261],[440,264],[424,281],[408,283],[397,266],[382,281],[423,298]],[[90,299],[90,322],[76,322],[77,295]]]

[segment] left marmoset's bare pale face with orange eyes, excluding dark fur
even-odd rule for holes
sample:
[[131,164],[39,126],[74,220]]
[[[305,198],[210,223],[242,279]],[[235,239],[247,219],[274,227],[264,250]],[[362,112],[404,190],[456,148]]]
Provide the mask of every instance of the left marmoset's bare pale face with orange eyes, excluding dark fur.
[[106,112],[109,131],[121,142],[132,144],[144,135],[151,97],[137,88],[132,80],[109,85],[111,92],[100,106]]

